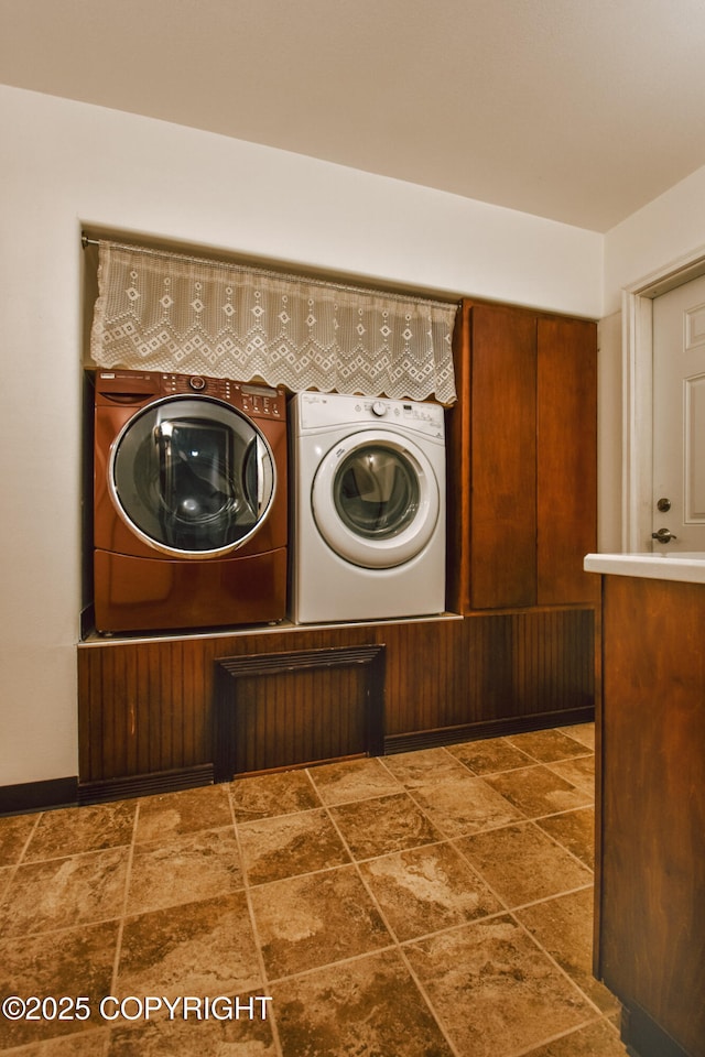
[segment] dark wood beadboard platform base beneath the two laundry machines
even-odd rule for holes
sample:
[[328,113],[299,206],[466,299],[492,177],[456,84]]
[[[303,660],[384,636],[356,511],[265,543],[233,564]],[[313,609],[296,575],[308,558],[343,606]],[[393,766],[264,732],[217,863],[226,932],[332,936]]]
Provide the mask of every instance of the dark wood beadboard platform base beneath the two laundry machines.
[[[224,730],[229,762],[218,762],[216,781],[230,763],[228,777],[588,720],[595,617],[590,608],[546,609],[86,643],[78,650],[82,796],[203,784]],[[297,664],[325,651],[337,658],[327,669]],[[362,654],[383,654],[383,668],[367,666]],[[268,672],[271,655],[283,660]],[[229,664],[239,676],[258,658],[262,675],[238,677],[242,723],[234,733],[217,673]]]

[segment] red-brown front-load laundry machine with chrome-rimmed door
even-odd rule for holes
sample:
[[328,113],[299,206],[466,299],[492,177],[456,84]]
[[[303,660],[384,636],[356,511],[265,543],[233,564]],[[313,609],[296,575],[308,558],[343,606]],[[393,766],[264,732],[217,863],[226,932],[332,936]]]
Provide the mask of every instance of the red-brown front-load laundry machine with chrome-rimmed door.
[[97,631],[281,620],[286,534],[283,392],[203,375],[96,373]]

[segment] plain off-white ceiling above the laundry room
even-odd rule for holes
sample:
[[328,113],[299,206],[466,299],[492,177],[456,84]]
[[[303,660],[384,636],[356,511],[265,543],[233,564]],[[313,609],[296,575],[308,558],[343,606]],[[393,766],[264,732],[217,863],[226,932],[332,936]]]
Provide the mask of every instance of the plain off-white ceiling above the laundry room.
[[705,165],[704,0],[0,0],[0,83],[605,231]]

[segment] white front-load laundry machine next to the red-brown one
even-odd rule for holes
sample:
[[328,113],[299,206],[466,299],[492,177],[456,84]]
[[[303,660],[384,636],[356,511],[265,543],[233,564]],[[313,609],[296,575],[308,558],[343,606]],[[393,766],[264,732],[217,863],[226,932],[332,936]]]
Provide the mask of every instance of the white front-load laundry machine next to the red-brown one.
[[443,407],[305,392],[290,422],[292,620],[443,612]]

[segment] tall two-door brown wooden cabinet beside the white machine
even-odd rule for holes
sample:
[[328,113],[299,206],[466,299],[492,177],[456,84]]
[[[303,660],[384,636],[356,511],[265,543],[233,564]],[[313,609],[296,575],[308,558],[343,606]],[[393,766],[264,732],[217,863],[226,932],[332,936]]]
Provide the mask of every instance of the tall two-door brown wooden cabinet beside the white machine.
[[595,324],[467,301],[455,346],[452,607],[596,602]]

